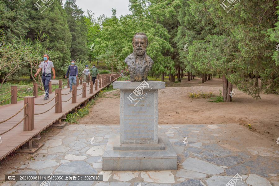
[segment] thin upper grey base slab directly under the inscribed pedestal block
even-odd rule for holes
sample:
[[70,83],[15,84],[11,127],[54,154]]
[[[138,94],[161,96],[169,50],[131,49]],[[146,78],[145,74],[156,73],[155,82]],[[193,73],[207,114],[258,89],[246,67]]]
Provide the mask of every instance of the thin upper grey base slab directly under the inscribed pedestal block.
[[165,150],[166,146],[161,137],[157,144],[120,144],[120,135],[116,135],[113,150]]

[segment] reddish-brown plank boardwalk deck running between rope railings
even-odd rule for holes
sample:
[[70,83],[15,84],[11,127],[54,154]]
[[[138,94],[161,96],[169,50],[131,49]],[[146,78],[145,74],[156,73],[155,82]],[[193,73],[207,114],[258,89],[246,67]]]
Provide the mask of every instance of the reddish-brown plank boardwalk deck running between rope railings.
[[[114,80],[115,81],[115,80]],[[99,82],[99,81],[98,81]],[[55,113],[55,107],[51,108],[55,104],[55,99],[53,99],[50,103],[45,105],[35,105],[34,106],[34,113],[42,113],[47,111],[46,113],[40,115],[34,115],[34,129],[32,131],[23,131],[23,121],[17,125],[12,130],[8,131],[7,133],[0,136],[0,160],[4,157],[15,151],[17,148],[28,142],[31,138],[35,135],[39,134],[41,131],[45,130],[47,127],[51,126],[53,123],[61,119],[64,115],[71,112],[73,109],[79,107],[82,103],[86,102],[89,98],[92,98],[95,94],[97,94],[100,90],[108,86],[111,82],[107,83],[106,85],[99,88],[95,91],[95,87],[93,85],[93,93],[90,94],[90,91],[86,92],[86,97],[82,97],[82,95],[77,96],[77,103],[72,104],[71,100],[69,100],[72,94],[62,95],[62,101],[69,100],[65,103],[62,103],[62,112]],[[78,89],[82,88],[82,85],[77,87]],[[90,87],[86,87],[88,90]],[[69,88],[62,89],[62,94],[69,93]],[[82,93],[82,89],[77,91],[77,95]],[[54,97],[54,91],[49,94],[49,100]],[[35,104],[43,104],[47,101],[44,101],[44,96],[40,95],[35,98]],[[18,112],[24,106],[24,100],[18,101],[17,104],[7,104],[0,107],[0,121],[3,121],[16,112]],[[7,131],[8,129],[12,128],[17,122],[19,122],[24,116],[24,110],[22,110],[19,114],[15,117],[11,118],[10,120],[3,122],[0,124],[0,133]]]

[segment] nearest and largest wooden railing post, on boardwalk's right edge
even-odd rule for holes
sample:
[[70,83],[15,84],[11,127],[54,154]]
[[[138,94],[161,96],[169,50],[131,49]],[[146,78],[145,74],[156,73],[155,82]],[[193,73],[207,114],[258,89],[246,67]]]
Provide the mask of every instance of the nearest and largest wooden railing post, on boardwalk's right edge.
[[24,115],[27,116],[23,119],[23,131],[32,131],[34,129],[34,96],[26,96],[24,97],[24,105],[27,104],[27,107],[24,108]]

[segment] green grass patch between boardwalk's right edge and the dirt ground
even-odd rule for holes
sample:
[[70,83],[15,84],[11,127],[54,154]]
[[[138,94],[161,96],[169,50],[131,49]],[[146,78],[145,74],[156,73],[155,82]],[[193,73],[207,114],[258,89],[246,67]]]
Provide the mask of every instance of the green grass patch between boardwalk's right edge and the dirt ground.
[[75,113],[68,113],[67,118],[65,119],[66,122],[69,123],[79,123],[79,119],[82,117],[86,116],[89,112],[90,109],[92,108],[92,105],[95,103],[95,100],[91,100],[87,102],[85,107],[81,107],[77,110]]

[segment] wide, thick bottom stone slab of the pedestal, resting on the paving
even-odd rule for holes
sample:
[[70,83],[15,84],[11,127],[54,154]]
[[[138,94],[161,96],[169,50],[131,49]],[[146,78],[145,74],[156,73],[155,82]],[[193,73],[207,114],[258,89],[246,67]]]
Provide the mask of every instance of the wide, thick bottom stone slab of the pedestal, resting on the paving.
[[103,154],[105,170],[177,170],[177,155],[170,141],[162,137],[165,150],[113,150],[116,136],[111,135]]

